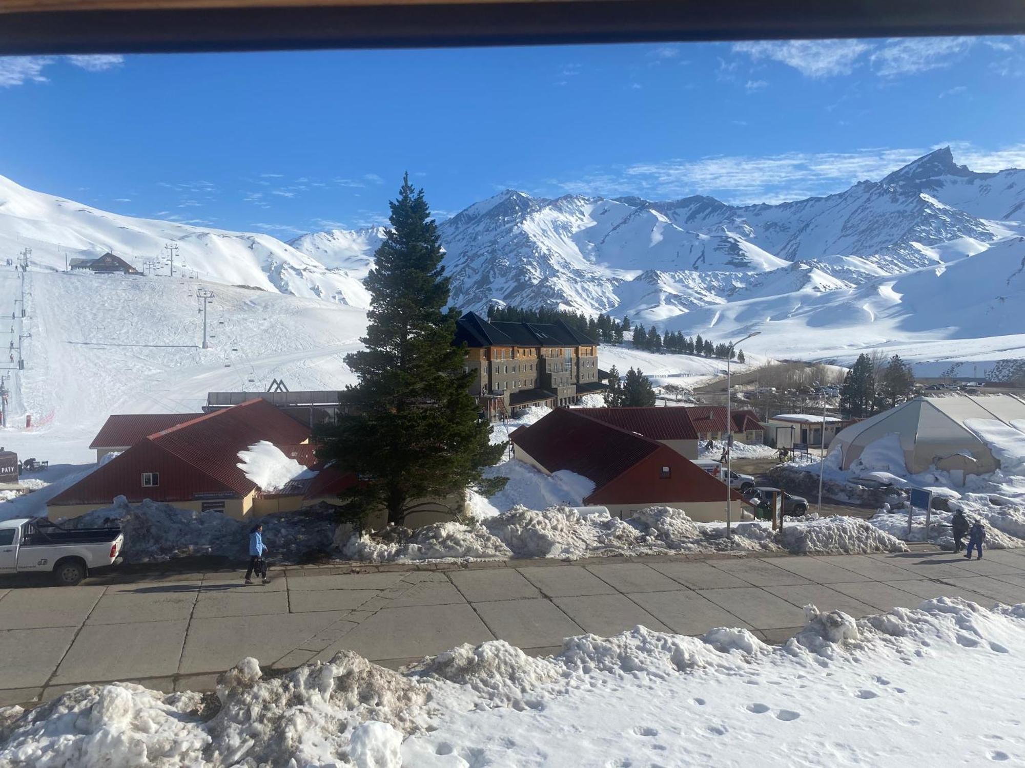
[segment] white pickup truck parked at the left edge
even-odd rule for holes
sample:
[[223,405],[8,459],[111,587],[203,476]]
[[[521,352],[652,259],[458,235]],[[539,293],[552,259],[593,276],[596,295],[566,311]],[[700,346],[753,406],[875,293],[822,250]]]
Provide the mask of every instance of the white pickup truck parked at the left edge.
[[116,565],[124,545],[121,528],[65,528],[45,517],[0,522],[0,574],[51,571],[74,587],[89,568]]

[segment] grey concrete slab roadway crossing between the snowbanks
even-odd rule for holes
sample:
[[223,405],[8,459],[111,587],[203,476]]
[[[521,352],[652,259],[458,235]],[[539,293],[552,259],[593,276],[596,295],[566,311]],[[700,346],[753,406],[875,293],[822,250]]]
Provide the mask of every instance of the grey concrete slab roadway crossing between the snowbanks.
[[918,552],[352,570],[289,569],[265,586],[218,572],[0,589],[0,705],[113,680],[208,690],[247,655],[285,669],[348,648],[399,667],[494,638],[556,652],[565,637],[639,624],[687,635],[745,627],[781,642],[803,626],[808,603],[860,616],[941,595],[987,606],[1025,602],[1025,550],[989,550],[972,561]]

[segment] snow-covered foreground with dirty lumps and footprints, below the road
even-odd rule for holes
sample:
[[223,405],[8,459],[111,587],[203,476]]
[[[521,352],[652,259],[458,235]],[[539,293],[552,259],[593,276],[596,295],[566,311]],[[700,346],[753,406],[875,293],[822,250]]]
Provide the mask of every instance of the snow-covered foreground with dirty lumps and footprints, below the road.
[[393,672],[352,651],[265,678],[253,658],[216,697],[85,685],[0,710],[0,763],[100,766],[1016,764],[1025,605],[961,599],[855,621],[806,608],[782,646],[742,629],[637,627],[533,658],[504,641]]

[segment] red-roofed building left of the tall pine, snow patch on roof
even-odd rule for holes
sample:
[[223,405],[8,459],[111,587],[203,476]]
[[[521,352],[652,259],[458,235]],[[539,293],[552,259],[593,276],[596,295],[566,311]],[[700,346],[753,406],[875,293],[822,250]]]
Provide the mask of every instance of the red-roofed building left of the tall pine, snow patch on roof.
[[253,512],[260,489],[239,468],[238,454],[261,440],[286,456],[294,454],[300,464],[313,459],[305,444],[310,428],[266,400],[253,399],[145,436],[53,497],[48,514],[54,519],[77,517],[124,496],[132,503],[151,499],[245,518]]

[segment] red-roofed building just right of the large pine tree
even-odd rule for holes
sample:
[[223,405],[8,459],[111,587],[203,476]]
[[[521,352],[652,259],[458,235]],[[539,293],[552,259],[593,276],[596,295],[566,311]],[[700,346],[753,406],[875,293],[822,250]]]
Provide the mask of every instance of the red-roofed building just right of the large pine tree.
[[[556,409],[517,429],[510,435],[516,458],[545,474],[568,470],[586,477],[594,489],[581,503],[607,507],[619,517],[660,506],[682,509],[694,520],[726,519],[727,486],[722,480],[659,440],[587,411]],[[737,502],[739,519],[746,502],[736,492],[731,498]]]

